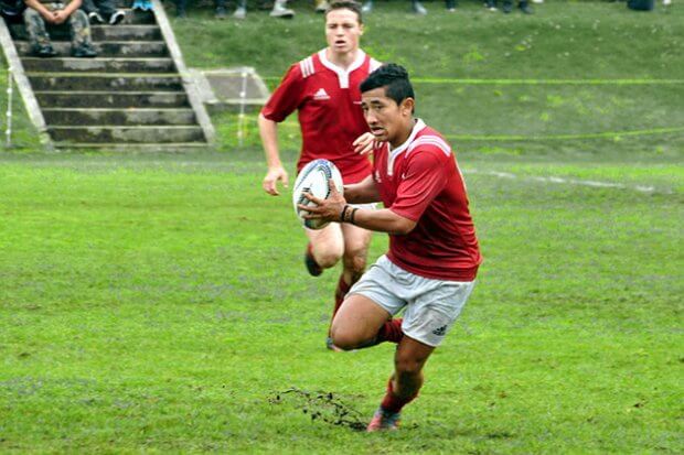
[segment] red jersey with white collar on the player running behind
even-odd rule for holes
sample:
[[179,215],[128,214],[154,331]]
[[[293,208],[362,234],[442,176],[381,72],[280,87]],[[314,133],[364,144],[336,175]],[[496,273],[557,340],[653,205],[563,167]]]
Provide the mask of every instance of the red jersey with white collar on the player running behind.
[[297,171],[324,158],[340,169],[345,184],[371,174],[371,162],[354,153],[352,142],[368,131],[359,85],[378,66],[361,50],[349,69],[329,62],[325,50],[290,66],[261,115],[281,122],[295,109],[299,111],[302,143]]

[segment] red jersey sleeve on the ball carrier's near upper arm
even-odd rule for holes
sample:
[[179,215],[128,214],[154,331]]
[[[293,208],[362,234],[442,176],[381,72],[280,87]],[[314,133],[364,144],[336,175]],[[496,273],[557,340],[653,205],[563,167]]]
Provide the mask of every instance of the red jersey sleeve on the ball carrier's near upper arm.
[[427,207],[447,185],[447,172],[441,151],[415,150],[403,172],[402,183],[389,209],[418,223]]

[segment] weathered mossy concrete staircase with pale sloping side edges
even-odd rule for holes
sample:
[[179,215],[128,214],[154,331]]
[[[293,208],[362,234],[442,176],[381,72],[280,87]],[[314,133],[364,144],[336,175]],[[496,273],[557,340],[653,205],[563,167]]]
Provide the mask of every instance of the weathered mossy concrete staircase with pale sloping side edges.
[[[130,4],[119,1],[120,6]],[[13,65],[14,73],[19,66],[25,75],[52,145],[113,150],[211,147],[213,127],[161,2],[154,1],[153,12],[125,11],[126,19],[118,25],[92,25],[96,58],[71,56],[66,26],[49,29],[56,57],[34,57],[24,25],[9,25],[20,61]],[[6,50],[6,55],[10,54]],[[31,109],[30,102],[26,106]]]

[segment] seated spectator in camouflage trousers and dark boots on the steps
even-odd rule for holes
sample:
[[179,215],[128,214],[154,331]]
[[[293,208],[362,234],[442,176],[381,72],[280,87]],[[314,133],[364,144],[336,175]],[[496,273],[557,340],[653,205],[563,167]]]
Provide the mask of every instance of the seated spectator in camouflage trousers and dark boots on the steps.
[[97,56],[90,40],[88,17],[78,9],[81,2],[82,0],[71,0],[65,4],[50,0],[45,1],[45,3],[41,2],[41,0],[26,0],[24,23],[35,55],[39,57],[53,57],[57,54],[50,43],[45,22],[55,25],[68,22],[72,32],[72,55],[74,57]]

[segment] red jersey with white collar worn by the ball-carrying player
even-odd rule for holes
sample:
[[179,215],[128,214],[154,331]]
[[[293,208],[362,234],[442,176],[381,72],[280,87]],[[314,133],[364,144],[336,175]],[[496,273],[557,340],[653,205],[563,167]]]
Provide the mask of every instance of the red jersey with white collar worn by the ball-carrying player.
[[389,235],[389,260],[425,278],[474,280],[482,257],[449,144],[417,120],[405,143],[395,150],[382,143],[374,158],[373,177],[383,204],[417,223],[406,236]]

